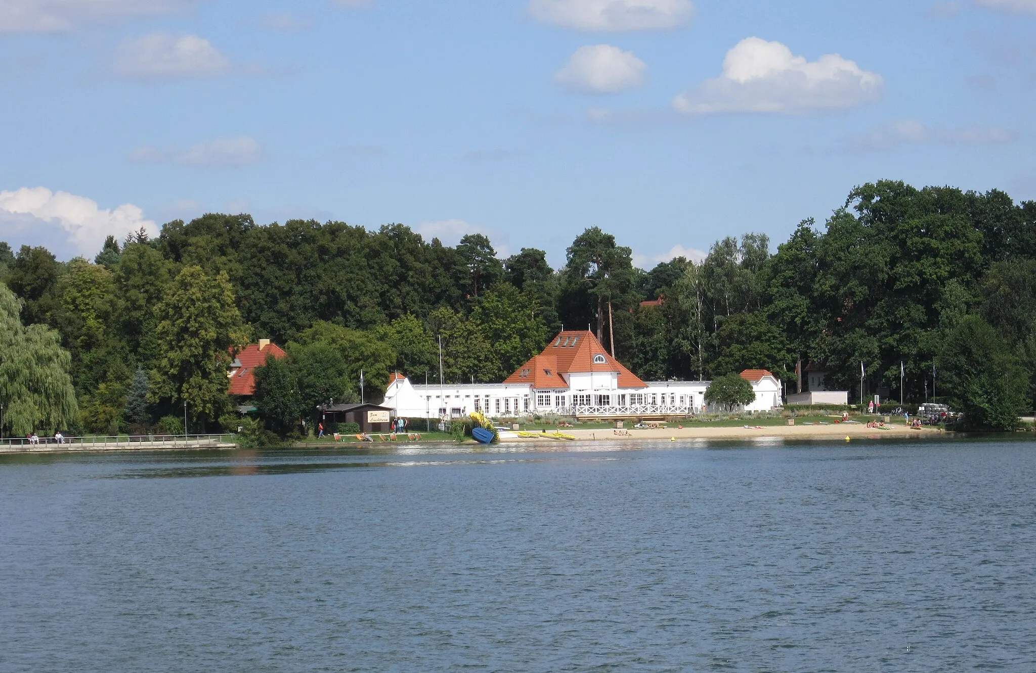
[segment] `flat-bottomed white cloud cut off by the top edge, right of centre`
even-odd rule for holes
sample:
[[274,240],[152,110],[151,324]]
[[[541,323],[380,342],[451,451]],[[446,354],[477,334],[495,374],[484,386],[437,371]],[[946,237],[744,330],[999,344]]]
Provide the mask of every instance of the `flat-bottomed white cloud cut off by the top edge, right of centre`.
[[690,0],[529,0],[537,21],[587,32],[675,28],[694,17]]

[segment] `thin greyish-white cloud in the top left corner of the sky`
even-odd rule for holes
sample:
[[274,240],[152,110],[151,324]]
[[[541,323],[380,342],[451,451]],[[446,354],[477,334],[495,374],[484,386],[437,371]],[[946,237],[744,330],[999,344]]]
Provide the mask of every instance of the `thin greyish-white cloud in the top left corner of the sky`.
[[169,13],[193,0],[3,0],[0,32],[58,32],[84,23]]

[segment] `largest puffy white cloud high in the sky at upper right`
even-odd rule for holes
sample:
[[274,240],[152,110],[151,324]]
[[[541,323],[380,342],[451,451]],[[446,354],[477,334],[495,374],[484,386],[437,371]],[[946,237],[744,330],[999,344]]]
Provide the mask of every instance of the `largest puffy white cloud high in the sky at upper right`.
[[882,76],[838,54],[807,61],[780,42],[747,37],[726,53],[720,77],[681,93],[672,106],[687,114],[805,114],[873,100],[882,85]]

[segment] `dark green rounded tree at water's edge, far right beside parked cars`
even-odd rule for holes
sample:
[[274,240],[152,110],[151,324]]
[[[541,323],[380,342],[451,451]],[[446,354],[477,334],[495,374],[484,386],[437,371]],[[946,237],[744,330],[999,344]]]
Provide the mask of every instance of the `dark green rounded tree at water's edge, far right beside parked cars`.
[[939,362],[941,385],[969,426],[1014,430],[1029,377],[997,330],[979,316],[968,316],[946,340]]

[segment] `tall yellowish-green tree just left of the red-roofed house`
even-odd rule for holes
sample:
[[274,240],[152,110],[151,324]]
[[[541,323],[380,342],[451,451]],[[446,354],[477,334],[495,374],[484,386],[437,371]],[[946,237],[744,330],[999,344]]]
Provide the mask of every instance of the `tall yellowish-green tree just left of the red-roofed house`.
[[231,350],[248,341],[227,273],[212,277],[200,266],[183,267],[155,311],[159,356],[148,400],[186,402],[195,418],[219,418],[229,404]]

